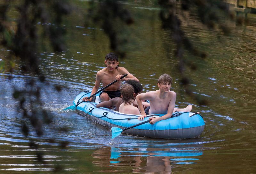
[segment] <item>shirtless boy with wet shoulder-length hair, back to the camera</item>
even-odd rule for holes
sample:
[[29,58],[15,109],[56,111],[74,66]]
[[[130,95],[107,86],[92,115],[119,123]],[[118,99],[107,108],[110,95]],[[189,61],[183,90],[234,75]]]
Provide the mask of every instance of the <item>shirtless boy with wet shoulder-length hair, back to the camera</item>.
[[[122,95],[123,103],[119,107],[119,112],[122,112],[124,114],[140,115],[139,109],[133,106],[133,102],[135,101],[135,98],[134,98],[134,89],[132,85],[127,83],[122,85],[121,95]],[[142,102],[141,102],[141,105],[142,105]]]

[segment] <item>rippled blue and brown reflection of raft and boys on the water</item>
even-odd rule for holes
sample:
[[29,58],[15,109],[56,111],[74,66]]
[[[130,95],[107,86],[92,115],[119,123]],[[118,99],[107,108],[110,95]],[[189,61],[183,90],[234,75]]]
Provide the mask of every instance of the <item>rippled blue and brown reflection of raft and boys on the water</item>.
[[[194,144],[198,145],[198,143]],[[134,145],[129,148],[116,146],[99,148],[92,153],[94,158],[92,163],[99,167],[130,163],[134,173],[167,174],[172,172],[171,164],[196,163],[199,159],[194,157],[203,155],[203,151],[198,150],[198,146],[196,148],[184,147],[188,145],[187,143],[172,143],[168,148],[164,148],[163,144],[158,144],[157,148],[149,148],[152,144],[148,144],[146,148],[138,148]],[[180,147],[182,145],[183,147]]]

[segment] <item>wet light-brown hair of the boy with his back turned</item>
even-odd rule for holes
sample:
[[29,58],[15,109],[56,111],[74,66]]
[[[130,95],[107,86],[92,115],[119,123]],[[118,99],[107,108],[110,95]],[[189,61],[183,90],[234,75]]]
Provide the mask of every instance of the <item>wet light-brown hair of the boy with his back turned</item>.
[[133,96],[134,88],[132,85],[125,83],[122,85],[120,92],[124,104],[132,104],[135,101]]

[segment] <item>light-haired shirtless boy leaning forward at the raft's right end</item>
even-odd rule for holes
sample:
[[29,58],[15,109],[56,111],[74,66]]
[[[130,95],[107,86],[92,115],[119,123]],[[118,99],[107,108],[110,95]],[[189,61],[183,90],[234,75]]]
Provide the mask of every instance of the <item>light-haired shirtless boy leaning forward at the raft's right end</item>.
[[153,118],[150,117],[150,124],[155,124],[160,120],[164,120],[172,117],[172,112],[175,111],[191,111],[192,106],[188,105],[187,108],[178,109],[174,108],[176,101],[176,93],[170,91],[172,84],[172,78],[168,74],[163,74],[159,77],[157,86],[159,90],[142,93],[136,96],[136,101],[140,109],[141,116],[138,118],[140,121],[147,117],[141,100],[149,100],[150,109],[147,114],[165,114],[162,117]]

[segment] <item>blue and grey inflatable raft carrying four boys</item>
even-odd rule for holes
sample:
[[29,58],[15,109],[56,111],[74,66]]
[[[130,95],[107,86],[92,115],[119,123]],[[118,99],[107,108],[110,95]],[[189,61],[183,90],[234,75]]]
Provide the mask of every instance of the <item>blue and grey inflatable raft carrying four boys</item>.
[[[83,97],[89,97],[89,93],[81,93],[76,96],[74,105],[81,102]],[[121,129],[140,123],[138,115],[123,114],[107,108],[96,108],[99,94],[96,95],[96,102],[83,102],[76,107],[76,111],[81,115],[86,115],[97,123],[107,127],[119,127]],[[161,117],[163,115],[148,115],[149,117]],[[166,139],[184,139],[198,137],[204,130],[204,120],[200,114],[193,112],[175,112],[172,118],[161,120],[154,125],[143,124],[124,133]]]

